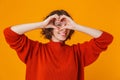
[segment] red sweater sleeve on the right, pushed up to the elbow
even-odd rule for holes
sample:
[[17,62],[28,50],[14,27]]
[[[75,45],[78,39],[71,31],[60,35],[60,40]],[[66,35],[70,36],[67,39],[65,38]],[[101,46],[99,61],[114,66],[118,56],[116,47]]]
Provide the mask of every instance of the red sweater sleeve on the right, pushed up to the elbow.
[[84,66],[93,63],[102,51],[105,51],[112,42],[113,36],[107,32],[103,32],[99,38],[93,38],[88,42],[78,44],[76,49],[83,59]]

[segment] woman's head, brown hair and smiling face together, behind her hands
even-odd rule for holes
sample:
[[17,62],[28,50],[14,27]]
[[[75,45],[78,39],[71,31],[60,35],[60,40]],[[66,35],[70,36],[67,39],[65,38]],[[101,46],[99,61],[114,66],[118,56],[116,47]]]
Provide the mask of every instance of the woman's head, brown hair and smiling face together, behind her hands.
[[[72,17],[65,11],[65,10],[55,10],[53,12],[51,12],[48,16],[46,16],[45,19],[47,19],[48,17],[57,14],[58,16],[61,15],[66,15],[68,17],[70,17],[72,19]],[[57,21],[56,21],[57,22]],[[54,25],[56,27],[60,27],[62,26],[61,23],[55,23]],[[42,34],[45,36],[45,38],[55,41],[55,42],[61,42],[61,41],[66,41],[67,39],[70,39],[72,34],[74,33],[74,30],[69,30],[69,29],[53,29],[53,28],[44,28],[42,29]]]

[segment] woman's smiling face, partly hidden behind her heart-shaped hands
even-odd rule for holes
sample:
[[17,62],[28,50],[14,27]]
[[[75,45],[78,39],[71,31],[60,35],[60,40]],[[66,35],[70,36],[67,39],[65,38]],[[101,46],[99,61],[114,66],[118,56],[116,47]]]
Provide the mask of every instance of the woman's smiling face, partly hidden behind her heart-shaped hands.
[[63,42],[67,39],[70,30],[69,29],[61,29],[64,27],[66,24],[65,22],[59,22],[56,21],[55,26],[59,28],[54,28],[53,29],[53,35],[52,35],[52,41],[54,42]]

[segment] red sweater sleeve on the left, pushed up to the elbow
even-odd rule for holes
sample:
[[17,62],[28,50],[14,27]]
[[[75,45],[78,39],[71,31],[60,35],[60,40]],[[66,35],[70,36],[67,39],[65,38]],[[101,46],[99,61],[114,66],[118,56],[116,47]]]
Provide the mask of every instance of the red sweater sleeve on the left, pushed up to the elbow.
[[28,57],[33,53],[34,47],[38,44],[37,41],[28,39],[24,34],[19,35],[15,33],[10,27],[4,30],[4,36],[7,43],[17,52],[19,58],[24,63],[27,62]]

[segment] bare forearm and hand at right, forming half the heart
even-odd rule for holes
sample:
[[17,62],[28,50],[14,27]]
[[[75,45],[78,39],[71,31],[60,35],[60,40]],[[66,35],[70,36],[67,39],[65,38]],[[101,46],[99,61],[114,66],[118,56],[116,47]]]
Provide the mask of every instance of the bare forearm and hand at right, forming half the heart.
[[72,29],[72,30],[77,30],[77,31],[80,31],[80,32],[84,32],[86,34],[91,35],[94,38],[100,37],[101,34],[103,33],[100,30],[79,25],[79,24],[75,23],[71,18],[69,18],[69,17],[67,17],[65,15],[61,16],[61,19],[64,19],[64,21],[66,21],[66,23],[67,23],[66,26],[63,27],[63,28],[67,28],[67,29]]

